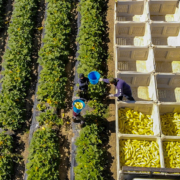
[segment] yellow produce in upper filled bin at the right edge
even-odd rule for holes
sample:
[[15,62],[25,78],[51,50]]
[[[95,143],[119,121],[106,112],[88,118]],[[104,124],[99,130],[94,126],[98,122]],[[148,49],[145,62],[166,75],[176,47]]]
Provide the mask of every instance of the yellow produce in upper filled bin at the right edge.
[[167,113],[161,115],[161,126],[164,135],[180,136],[180,114]]

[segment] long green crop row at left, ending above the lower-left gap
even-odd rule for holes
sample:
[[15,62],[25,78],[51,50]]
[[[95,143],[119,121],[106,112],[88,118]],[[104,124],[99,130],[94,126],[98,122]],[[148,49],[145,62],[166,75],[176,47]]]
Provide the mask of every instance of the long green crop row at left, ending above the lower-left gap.
[[19,129],[24,120],[25,98],[30,83],[33,17],[39,0],[15,0],[8,48],[4,54],[0,126]]

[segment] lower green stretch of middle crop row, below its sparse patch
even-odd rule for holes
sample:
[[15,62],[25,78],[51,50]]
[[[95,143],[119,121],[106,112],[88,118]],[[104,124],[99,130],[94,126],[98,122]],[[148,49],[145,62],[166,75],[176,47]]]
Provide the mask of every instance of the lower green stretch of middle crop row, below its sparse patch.
[[59,179],[59,138],[50,129],[39,129],[33,134],[27,163],[28,180]]

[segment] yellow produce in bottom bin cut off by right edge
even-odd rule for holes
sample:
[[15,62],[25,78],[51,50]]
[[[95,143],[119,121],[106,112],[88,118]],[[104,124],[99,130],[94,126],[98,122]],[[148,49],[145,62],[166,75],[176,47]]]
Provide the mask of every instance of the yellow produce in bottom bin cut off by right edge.
[[163,142],[166,168],[180,168],[180,141]]

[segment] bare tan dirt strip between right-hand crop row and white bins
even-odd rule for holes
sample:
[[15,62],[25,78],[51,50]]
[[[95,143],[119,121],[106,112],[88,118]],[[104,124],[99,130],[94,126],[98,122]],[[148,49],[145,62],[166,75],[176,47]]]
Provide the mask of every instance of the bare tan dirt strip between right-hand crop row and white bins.
[[[107,11],[107,22],[109,27],[109,43],[108,43],[108,53],[109,58],[107,62],[108,66],[108,77],[115,76],[115,63],[114,63],[114,0],[109,0],[108,2],[108,11]],[[110,93],[114,93],[114,87],[111,87]],[[117,166],[116,166],[116,131],[115,131],[115,101],[112,98],[108,100],[108,109],[109,109],[109,117],[108,120],[108,128],[110,131],[109,136],[109,164],[110,164],[110,175],[111,178],[109,180],[117,180]]]

